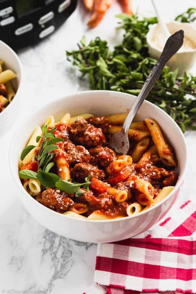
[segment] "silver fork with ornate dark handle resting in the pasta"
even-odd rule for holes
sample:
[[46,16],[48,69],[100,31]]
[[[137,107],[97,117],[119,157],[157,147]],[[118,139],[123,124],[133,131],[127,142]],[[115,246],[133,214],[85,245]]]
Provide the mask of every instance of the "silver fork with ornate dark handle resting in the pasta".
[[180,49],[183,44],[184,31],[180,30],[174,33],[167,39],[163,52],[156,62],[155,66],[151,70],[147,80],[145,81],[138,97],[135,99],[133,106],[131,107],[128,116],[125,119],[125,122],[120,130],[120,132],[114,134],[108,145],[118,154],[127,154],[129,151],[129,139],[128,139],[128,130],[135,114],[138,112],[143,101],[147,97],[148,93],[156,83],[159,78],[165,64],[167,61]]

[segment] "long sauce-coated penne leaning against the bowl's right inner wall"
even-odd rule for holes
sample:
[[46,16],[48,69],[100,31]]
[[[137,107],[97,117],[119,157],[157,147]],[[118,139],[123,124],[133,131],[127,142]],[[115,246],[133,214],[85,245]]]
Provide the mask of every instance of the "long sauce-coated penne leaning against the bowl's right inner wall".
[[169,146],[166,144],[160,127],[153,119],[146,118],[145,123],[148,126],[153,142],[157,148],[161,161],[167,166],[176,166],[175,160]]

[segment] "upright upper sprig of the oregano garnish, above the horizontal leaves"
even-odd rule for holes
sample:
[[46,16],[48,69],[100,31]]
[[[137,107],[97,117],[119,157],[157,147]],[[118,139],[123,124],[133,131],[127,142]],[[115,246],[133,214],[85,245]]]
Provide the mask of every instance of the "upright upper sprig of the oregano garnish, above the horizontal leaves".
[[[37,136],[36,142],[38,142],[40,139],[41,146],[39,148],[38,155],[36,156],[38,161],[38,171],[46,171],[48,172],[53,166],[54,162],[51,162],[52,159],[55,156],[55,153],[50,153],[51,151],[58,149],[57,145],[54,145],[55,143],[64,141],[62,138],[56,138],[53,134],[53,131],[55,131],[57,128],[51,128],[48,130],[48,126],[43,126],[42,132],[43,136]],[[21,153],[21,160],[25,158],[25,156],[36,146],[29,145],[24,148],[24,150]]]

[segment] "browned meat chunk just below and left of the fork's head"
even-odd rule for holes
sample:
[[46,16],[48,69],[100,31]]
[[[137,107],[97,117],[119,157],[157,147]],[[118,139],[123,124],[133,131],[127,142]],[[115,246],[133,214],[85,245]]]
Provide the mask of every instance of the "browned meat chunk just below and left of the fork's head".
[[91,148],[89,152],[91,154],[91,163],[104,167],[117,159],[115,152],[108,147],[97,146]]

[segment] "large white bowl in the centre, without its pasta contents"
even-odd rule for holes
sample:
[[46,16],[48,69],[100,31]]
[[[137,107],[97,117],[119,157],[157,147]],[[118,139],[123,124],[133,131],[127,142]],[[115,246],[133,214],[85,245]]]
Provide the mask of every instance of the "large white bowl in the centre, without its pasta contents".
[[23,188],[18,176],[18,162],[21,151],[37,125],[43,125],[50,115],[55,120],[69,112],[71,116],[80,113],[92,113],[96,116],[123,113],[133,104],[136,97],[114,91],[83,91],[49,103],[40,111],[29,117],[16,131],[11,142],[9,164],[11,173],[17,184],[16,194],[31,215],[46,228],[65,237],[86,242],[112,242],[138,235],[148,230],[163,218],[178,198],[180,187],[185,176],[187,149],[182,131],[163,110],[148,101],[137,113],[136,120],[153,118],[160,124],[164,134],[175,149],[180,175],[173,191],[158,205],[137,216],[114,220],[78,220],[46,208],[34,200]]

